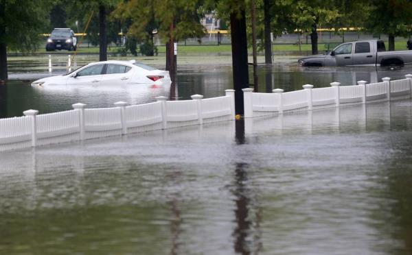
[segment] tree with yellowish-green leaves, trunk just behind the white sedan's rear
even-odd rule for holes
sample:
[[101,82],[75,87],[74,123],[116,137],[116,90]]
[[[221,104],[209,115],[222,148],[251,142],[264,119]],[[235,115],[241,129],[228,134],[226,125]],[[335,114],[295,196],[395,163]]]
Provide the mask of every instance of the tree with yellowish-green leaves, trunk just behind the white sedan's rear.
[[176,57],[174,42],[185,38],[201,38],[205,29],[199,22],[202,16],[200,0],[130,0],[117,5],[113,17],[121,21],[132,19],[129,36],[150,38],[157,29],[167,42],[166,70],[175,82]]

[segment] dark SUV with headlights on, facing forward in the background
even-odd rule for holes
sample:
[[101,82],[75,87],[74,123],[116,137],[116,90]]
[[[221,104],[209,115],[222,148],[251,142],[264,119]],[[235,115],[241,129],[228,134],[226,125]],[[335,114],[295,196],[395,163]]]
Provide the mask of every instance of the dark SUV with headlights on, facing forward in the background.
[[73,30],[69,28],[55,28],[47,38],[46,51],[55,49],[67,49],[68,51],[76,50],[77,39]]

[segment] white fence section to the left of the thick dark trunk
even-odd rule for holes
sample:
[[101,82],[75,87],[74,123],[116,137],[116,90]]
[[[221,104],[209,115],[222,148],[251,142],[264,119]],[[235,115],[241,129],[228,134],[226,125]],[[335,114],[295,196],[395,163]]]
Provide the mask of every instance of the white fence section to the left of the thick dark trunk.
[[78,103],[73,110],[49,114],[26,110],[23,117],[0,119],[0,151],[235,119],[235,90],[209,99],[156,99],[132,106],[119,101],[113,108]]

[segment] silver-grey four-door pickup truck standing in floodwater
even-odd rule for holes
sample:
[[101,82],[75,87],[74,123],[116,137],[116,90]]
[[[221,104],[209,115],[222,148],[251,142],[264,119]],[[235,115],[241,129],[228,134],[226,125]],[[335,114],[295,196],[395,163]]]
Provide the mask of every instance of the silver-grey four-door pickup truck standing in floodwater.
[[400,66],[412,64],[412,51],[385,51],[383,40],[345,42],[323,55],[298,60],[299,66]]

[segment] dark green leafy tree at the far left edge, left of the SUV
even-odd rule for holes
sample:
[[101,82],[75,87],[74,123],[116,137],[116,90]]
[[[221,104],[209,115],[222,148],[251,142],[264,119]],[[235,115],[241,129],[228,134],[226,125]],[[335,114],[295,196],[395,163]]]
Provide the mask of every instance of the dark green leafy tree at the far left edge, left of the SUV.
[[7,80],[7,51],[33,51],[43,39],[50,4],[45,0],[0,0],[0,80]]

